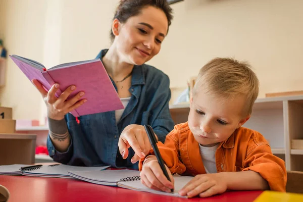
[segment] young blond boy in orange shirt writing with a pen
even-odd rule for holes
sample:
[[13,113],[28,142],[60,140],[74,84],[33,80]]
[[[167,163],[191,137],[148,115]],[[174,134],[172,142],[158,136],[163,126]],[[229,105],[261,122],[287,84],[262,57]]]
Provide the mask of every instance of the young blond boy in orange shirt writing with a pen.
[[[274,156],[257,131],[241,127],[259,93],[256,74],[246,63],[216,58],[199,72],[190,97],[188,122],[158,143],[169,173],[195,176],[180,195],[207,197],[226,190],[285,191],[284,161]],[[170,192],[172,182],[156,157],[141,159],[141,182]],[[243,171],[243,172],[238,172]]]

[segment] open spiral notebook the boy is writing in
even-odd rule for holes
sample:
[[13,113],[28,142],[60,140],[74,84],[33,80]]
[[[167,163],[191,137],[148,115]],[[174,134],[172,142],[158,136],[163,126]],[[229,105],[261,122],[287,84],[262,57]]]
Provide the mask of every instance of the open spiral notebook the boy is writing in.
[[118,186],[137,191],[146,191],[163,195],[180,196],[178,191],[186,185],[193,177],[173,175],[175,180],[174,193],[157,191],[144,186],[140,181],[140,171],[135,170],[103,170],[103,171],[68,171],[68,173],[80,180],[110,186]]

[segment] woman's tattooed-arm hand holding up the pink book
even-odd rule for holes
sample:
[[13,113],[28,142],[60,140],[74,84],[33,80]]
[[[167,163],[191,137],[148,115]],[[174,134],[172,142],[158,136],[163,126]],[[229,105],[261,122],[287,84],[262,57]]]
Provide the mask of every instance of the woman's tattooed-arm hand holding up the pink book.
[[54,84],[47,92],[38,80],[33,79],[32,82],[42,95],[47,107],[47,117],[51,119],[62,120],[64,119],[64,115],[86,102],[86,99],[80,100],[84,95],[84,92],[79,92],[68,101],[66,100],[67,97],[76,89],[74,85],[69,86],[59,97],[56,97],[55,93],[59,89],[58,83]]

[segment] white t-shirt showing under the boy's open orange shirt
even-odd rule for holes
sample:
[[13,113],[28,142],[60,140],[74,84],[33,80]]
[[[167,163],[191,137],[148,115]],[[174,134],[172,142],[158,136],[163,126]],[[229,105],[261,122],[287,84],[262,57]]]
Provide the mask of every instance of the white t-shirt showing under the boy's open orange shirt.
[[219,147],[219,144],[212,146],[212,147],[201,146],[199,144],[200,155],[201,155],[206,173],[217,173],[216,150],[218,147]]

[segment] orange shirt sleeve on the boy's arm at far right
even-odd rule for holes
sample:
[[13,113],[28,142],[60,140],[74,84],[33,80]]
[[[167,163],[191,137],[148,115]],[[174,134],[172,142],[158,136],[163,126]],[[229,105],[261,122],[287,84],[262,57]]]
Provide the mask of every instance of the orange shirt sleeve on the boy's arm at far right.
[[274,156],[266,143],[248,148],[242,171],[255,171],[262,176],[274,191],[286,191],[285,162]]

